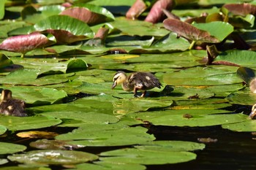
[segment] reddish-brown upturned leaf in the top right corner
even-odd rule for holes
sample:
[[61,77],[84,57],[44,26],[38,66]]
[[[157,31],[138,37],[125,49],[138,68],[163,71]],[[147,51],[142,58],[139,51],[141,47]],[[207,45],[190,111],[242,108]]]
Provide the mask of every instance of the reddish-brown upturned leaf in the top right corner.
[[247,14],[256,15],[256,5],[253,4],[225,4],[223,5],[226,9],[235,15],[245,16]]

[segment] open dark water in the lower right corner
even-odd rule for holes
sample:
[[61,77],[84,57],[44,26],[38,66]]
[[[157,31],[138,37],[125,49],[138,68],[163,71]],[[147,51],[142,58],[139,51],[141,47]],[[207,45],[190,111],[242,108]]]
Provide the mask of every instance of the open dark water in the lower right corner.
[[155,126],[151,132],[159,140],[197,142],[197,138],[217,139],[207,143],[204,150],[196,151],[197,159],[187,163],[148,166],[148,169],[256,169],[256,140],[252,133],[233,132],[220,126],[177,128]]

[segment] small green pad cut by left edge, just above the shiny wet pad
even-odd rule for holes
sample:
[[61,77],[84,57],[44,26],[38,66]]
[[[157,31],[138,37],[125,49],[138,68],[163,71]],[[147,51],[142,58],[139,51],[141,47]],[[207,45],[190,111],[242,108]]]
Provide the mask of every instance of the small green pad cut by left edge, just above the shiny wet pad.
[[11,154],[26,150],[26,147],[21,144],[12,144],[7,142],[0,142],[0,155]]

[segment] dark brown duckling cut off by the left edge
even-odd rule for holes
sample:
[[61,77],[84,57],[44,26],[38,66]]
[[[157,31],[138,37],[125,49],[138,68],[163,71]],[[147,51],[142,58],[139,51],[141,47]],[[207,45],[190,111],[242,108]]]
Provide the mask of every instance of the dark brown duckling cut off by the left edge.
[[0,113],[3,115],[12,115],[19,117],[27,116],[25,112],[25,101],[12,98],[11,90],[2,90]]

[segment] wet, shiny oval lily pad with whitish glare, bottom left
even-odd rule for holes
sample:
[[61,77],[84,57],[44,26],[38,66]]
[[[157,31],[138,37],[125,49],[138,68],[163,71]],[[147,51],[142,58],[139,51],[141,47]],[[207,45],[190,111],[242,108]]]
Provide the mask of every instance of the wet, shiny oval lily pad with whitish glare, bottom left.
[[26,164],[70,165],[97,160],[98,156],[75,150],[33,150],[8,156],[11,161]]

